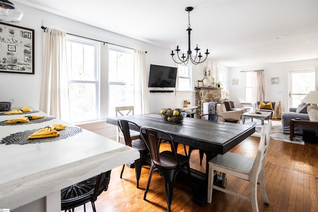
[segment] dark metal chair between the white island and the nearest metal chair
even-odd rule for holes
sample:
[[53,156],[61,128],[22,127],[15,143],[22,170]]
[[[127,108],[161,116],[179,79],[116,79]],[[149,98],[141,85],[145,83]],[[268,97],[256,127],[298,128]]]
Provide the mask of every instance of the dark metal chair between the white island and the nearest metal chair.
[[[135,160],[135,172],[136,172],[137,188],[139,188],[139,179],[140,179],[141,169],[143,166],[144,159],[145,159],[146,155],[149,153],[149,151],[146,148],[145,142],[143,140],[141,140],[141,139],[132,140],[132,137],[130,136],[130,131],[132,131],[132,130],[130,130],[129,125],[133,125],[136,129],[138,129],[138,132],[140,130],[140,127],[136,123],[119,119],[119,120],[117,120],[117,124],[118,124],[118,127],[120,128],[121,132],[124,135],[125,144],[127,146],[134,148],[134,149],[137,149],[140,153],[140,158]],[[125,169],[125,164],[123,165],[123,168],[121,170],[120,178],[122,178],[122,176],[123,176],[124,169]]]

